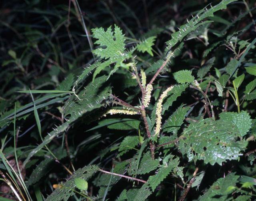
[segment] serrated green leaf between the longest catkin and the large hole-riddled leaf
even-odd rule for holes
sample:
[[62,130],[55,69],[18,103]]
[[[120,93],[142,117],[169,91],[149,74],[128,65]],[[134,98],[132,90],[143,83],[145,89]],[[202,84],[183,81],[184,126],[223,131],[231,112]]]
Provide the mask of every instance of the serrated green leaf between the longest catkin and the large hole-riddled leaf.
[[162,127],[163,131],[167,133],[173,132],[173,134],[176,135],[189,108],[190,107],[183,107],[183,105],[178,107],[178,109],[164,123]]

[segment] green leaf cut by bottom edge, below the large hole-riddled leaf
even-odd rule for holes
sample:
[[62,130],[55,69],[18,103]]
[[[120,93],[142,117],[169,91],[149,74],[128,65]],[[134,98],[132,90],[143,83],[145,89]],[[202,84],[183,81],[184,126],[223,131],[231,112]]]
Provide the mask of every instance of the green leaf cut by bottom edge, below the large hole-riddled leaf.
[[199,201],[226,201],[229,195],[234,191],[234,188],[227,191],[229,187],[236,186],[238,183],[238,175],[230,173],[224,178],[215,181],[210,189],[203,196],[199,197]]

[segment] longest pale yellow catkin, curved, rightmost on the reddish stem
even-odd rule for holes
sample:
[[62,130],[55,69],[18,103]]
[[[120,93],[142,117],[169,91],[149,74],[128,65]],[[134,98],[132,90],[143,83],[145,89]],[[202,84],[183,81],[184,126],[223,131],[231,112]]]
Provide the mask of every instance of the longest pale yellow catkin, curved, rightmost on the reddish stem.
[[162,106],[164,98],[166,98],[168,92],[172,90],[173,86],[167,88],[160,96],[158,103],[156,104],[156,128],[155,135],[159,136],[161,130],[161,120],[162,120]]

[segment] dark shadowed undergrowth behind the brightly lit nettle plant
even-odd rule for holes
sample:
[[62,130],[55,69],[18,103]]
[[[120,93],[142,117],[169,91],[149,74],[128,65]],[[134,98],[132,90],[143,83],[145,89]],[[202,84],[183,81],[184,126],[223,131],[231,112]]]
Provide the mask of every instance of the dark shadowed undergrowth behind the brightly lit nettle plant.
[[[186,23],[186,19],[191,18],[191,14],[196,14],[200,9],[212,3],[217,4],[218,0],[212,2],[208,0],[2,0],[0,2],[0,115],[6,113],[10,109],[20,105],[31,103],[30,94],[21,94],[17,91],[22,90],[54,90],[68,76],[68,74],[80,75],[83,68],[94,62],[91,50],[97,46],[93,44],[95,40],[91,37],[92,28],[103,27],[108,28],[110,25],[119,26],[127,38],[126,48],[132,48],[136,42],[130,40],[134,38],[143,40],[148,36],[157,35],[154,46],[154,57],[141,54],[141,61],[138,66],[146,66],[147,62],[153,63],[161,58],[165,48],[165,42],[170,40],[170,34],[178,31],[178,27]],[[250,8],[256,6],[254,0],[246,1]],[[243,1],[238,1],[226,10],[218,12],[218,16],[222,19],[211,24],[208,29],[208,41],[210,44],[226,40],[226,36],[233,34],[243,28],[244,32],[239,35],[240,40],[254,39],[255,25],[247,27],[255,19],[255,11],[252,9],[253,16],[247,14],[235,24],[228,24],[236,20],[242,13],[246,13],[246,7]],[[227,20],[227,21],[223,21]],[[225,36],[216,36],[222,30],[230,26]],[[86,34],[88,33],[88,35]],[[86,36],[87,35],[87,36]],[[91,47],[90,47],[91,44]],[[204,39],[195,37],[193,40],[187,40],[184,45],[182,54],[176,57],[173,65],[166,69],[166,74],[156,82],[160,90],[171,84],[175,84],[172,72],[189,69],[198,70],[203,62],[209,60],[212,56],[216,57],[214,67],[222,69],[226,66],[225,58],[234,57],[233,52],[228,50],[226,46],[219,46],[218,51],[212,56],[202,58],[203,52],[208,48]],[[10,53],[15,52],[16,56]],[[248,55],[248,58],[254,59],[254,55]],[[249,60],[249,59],[248,59]],[[252,61],[251,60],[251,61]],[[255,61],[255,59],[254,59]],[[104,74],[101,72],[101,74]],[[215,75],[214,68],[208,72],[208,76]],[[150,75],[152,76],[152,75]],[[150,77],[149,76],[149,77]],[[131,104],[138,103],[140,94],[136,84],[132,84],[131,80],[126,80],[127,76],[119,73],[112,76],[106,85],[112,87],[112,94],[118,96],[122,100],[126,100]],[[245,83],[255,79],[246,76]],[[202,81],[202,80],[201,80]],[[88,81],[86,81],[88,82]],[[131,85],[131,87],[127,87]],[[154,96],[158,97],[155,92]],[[42,97],[42,94],[34,94],[34,99]],[[218,116],[223,111],[223,102],[216,92],[209,92],[211,101],[214,101],[214,112]],[[198,120],[202,117],[204,102],[202,95],[195,92],[192,88],[188,88],[186,92],[174,102],[172,109],[164,117],[170,116],[170,113],[176,110],[180,103],[193,105],[190,117],[186,119],[186,127],[193,119]],[[106,103],[109,100],[106,100]],[[155,99],[153,98],[154,105]],[[55,125],[63,123],[62,106],[66,100],[58,101],[52,105],[47,105],[38,109],[42,126],[42,135],[45,137],[48,132],[52,131]],[[111,105],[111,103],[109,103]],[[150,106],[152,109],[153,106]],[[228,111],[236,111],[236,105],[229,98]],[[250,112],[251,118],[255,118],[255,102],[249,101],[242,106]],[[50,195],[53,191],[52,185],[66,181],[69,177],[62,164],[72,169],[84,167],[85,165],[96,164],[102,169],[111,171],[120,158],[117,158],[116,151],[110,151],[117,143],[120,143],[126,135],[137,135],[138,131],[134,130],[113,130],[107,127],[101,127],[96,130],[87,131],[98,125],[98,117],[104,111],[98,109],[89,112],[76,121],[61,133],[48,146],[52,151],[61,148],[66,155],[60,159],[60,163],[54,161],[50,163],[48,170],[43,174],[42,178],[36,182],[36,186],[44,197]],[[208,117],[207,113],[204,114]],[[125,115],[117,115],[118,118],[126,117]],[[203,116],[204,117],[204,116]],[[134,117],[135,118],[135,117]],[[94,121],[96,120],[96,121]],[[25,119],[19,119],[16,122],[16,130],[18,130],[17,149],[18,158],[24,161],[32,148],[41,143],[38,129],[36,127],[35,117],[32,113]],[[140,125],[143,133],[143,126]],[[181,131],[179,131],[181,132]],[[146,135],[146,134],[145,134]],[[6,137],[6,139],[5,139]],[[13,156],[13,124],[5,125],[0,129],[0,138],[2,149],[6,156]],[[4,140],[4,141],[3,141]],[[248,151],[255,148],[255,143],[250,142]],[[132,150],[129,154],[122,158],[122,161],[131,158],[136,151]],[[43,161],[48,152],[46,150],[38,152],[30,164],[27,164],[26,176],[28,179],[36,168],[36,165]],[[172,154],[180,156],[182,154],[178,149],[174,149]],[[188,163],[184,157],[181,159],[180,166],[185,166],[186,176],[191,176],[194,172],[195,165],[193,162]],[[199,189],[192,188],[187,195],[187,200],[198,199],[202,195],[204,189],[208,188],[214,181],[229,172],[236,172],[242,175],[255,176],[255,166],[250,165],[246,157],[241,157],[240,161],[228,161],[220,165],[199,164],[199,169],[204,169],[206,174],[202,180]],[[95,185],[95,178],[89,181],[89,195],[96,196],[99,187]],[[185,177],[188,178],[188,177]],[[191,177],[190,177],[191,178]],[[25,179],[25,180],[26,180]],[[94,181],[94,183],[93,183]],[[188,179],[185,179],[188,181]],[[3,184],[2,184],[3,185]],[[118,181],[118,185],[114,186],[108,193],[108,198],[114,200],[124,188],[133,187],[133,183],[127,184],[125,179]],[[165,180],[162,187],[155,191],[150,200],[170,200],[175,196],[180,197],[184,184],[176,177],[170,177]],[[33,188],[30,188],[32,196],[35,196]],[[11,194],[11,192],[6,192]],[[2,194],[6,195],[6,194]],[[13,195],[10,195],[12,197]],[[9,198],[10,198],[9,197]],[[255,197],[254,197],[255,198]]]

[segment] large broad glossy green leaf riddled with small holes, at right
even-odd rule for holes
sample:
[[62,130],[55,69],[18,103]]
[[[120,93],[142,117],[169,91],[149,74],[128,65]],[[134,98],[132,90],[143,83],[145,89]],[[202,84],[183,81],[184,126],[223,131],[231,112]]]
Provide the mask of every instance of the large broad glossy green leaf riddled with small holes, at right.
[[241,151],[246,149],[247,142],[237,140],[241,133],[231,120],[203,119],[192,122],[185,129],[179,141],[179,149],[188,160],[204,160],[214,165],[226,160],[238,159]]

